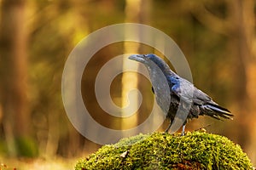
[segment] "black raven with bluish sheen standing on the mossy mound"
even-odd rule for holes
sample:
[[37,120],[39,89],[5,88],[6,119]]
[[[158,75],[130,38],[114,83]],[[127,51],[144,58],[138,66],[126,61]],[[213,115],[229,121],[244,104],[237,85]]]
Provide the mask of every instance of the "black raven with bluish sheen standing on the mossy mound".
[[170,119],[166,132],[175,121],[175,116],[182,120],[182,135],[187,121],[198,116],[212,116],[218,120],[232,119],[233,115],[229,110],[215,103],[191,82],[179,77],[157,55],[133,54],[129,59],[143,63],[147,67],[156,102]]

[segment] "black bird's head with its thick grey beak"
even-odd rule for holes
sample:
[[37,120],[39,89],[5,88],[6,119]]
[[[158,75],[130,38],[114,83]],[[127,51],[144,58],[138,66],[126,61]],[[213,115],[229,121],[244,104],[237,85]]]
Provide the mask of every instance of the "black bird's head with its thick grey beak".
[[161,71],[171,71],[169,65],[167,65],[163,59],[155,54],[133,54],[129,57],[129,59],[143,63],[148,67],[149,70],[155,66],[158,66]]

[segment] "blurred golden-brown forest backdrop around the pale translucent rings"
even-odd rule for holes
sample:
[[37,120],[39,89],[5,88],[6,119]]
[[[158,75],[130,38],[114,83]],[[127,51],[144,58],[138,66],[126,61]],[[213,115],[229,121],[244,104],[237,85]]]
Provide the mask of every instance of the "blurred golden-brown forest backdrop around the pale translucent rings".
[[[100,147],[69,122],[61,100],[61,74],[68,54],[85,36],[104,26],[135,22],[172,37],[188,59],[195,86],[235,115],[226,122],[202,117],[189,123],[187,130],[211,124],[208,132],[241,144],[255,165],[255,4],[253,0],[0,0],[0,158],[72,158]],[[140,52],[154,52],[131,43],[136,45]],[[91,89],[102,65],[124,51],[122,42],[102,48],[84,70],[84,104],[106,127],[119,128],[116,123],[124,120],[104,113]],[[111,88],[117,105],[122,76]],[[144,98],[135,116],[141,123],[154,96],[147,79],[138,81]]]

